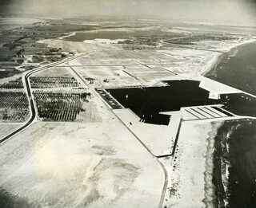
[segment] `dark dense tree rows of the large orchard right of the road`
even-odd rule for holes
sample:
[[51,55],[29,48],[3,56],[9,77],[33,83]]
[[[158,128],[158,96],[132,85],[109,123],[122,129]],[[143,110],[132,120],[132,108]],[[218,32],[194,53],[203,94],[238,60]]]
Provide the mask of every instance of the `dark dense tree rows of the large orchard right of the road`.
[[82,121],[78,120],[80,112],[85,112],[83,103],[88,102],[90,92],[43,92],[37,90],[34,100],[38,116],[43,121]]

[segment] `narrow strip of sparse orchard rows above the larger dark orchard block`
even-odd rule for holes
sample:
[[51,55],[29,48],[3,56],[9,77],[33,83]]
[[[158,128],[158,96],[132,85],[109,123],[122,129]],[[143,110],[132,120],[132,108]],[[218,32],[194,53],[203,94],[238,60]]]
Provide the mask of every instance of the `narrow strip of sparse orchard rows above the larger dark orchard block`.
[[78,81],[74,77],[30,77],[31,88],[74,88]]

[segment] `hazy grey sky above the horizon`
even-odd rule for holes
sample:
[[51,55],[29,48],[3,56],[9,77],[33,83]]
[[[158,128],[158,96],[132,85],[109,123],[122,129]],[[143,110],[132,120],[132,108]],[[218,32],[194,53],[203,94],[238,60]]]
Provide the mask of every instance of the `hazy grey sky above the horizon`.
[[0,12],[60,18],[159,18],[256,26],[256,0],[0,0]]

